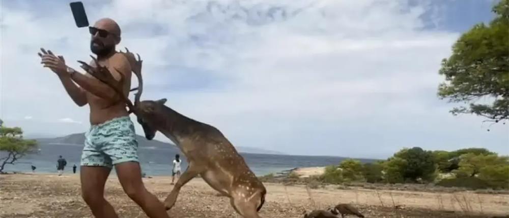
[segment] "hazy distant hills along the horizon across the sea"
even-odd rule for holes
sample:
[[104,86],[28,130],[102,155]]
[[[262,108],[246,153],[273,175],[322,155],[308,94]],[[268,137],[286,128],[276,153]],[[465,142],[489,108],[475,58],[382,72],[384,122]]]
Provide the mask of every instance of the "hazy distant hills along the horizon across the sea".
[[[69,145],[82,145],[85,140],[84,133],[74,133],[62,137],[55,138],[36,138],[40,143],[48,143],[48,144],[69,144]],[[158,140],[148,140],[144,136],[136,135],[136,140],[138,141],[139,148],[145,149],[177,149],[177,146],[173,143],[162,142]],[[169,148],[168,148],[169,147]],[[251,147],[235,147],[237,151],[240,153],[250,153],[250,154],[279,154],[282,153],[269,151],[258,148]]]

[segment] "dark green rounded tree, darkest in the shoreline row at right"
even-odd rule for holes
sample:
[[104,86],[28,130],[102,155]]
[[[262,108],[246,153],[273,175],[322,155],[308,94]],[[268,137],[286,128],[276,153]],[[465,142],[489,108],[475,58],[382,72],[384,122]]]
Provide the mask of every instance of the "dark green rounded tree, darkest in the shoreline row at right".
[[394,157],[406,161],[403,177],[407,180],[417,181],[418,178],[432,181],[435,177],[435,158],[431,151],[424,151],[419,147],[402,149]]

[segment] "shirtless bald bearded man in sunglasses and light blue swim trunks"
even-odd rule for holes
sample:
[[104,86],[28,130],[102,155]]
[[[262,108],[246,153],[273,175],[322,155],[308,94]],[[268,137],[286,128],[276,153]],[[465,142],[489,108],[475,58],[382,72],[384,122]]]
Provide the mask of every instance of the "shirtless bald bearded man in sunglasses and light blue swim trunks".
[[[112,76],[125,80],[124,94],[129,94],[131,65],[122,53],[115,50],[120,43],[120,27],[103,18],[90,28],[90,49],[97,55],[99,65],[106,66]],[[68,67],[62,56],[41,49],[39,53],[44,67],[50,68],[60,79],[65,90],[78,105],[90,106],[89,131],[81,155],[81,195],[95,217],[116,218],[114,208],[104,199],[106,179],[115,166],[124,192],[136,202],[151,218],[169,218],[163,204],[144,186],[138,163],[137,141],[134,125],[126,110],[124,101],[113,89],[89,74],[81,74]],[[91,66],[96,66],[91,61]],[[118,69],[117,70],[115,70]],[[77,85],[76,85],[76,84]],[[112,106],[112,103],[118,102]]]

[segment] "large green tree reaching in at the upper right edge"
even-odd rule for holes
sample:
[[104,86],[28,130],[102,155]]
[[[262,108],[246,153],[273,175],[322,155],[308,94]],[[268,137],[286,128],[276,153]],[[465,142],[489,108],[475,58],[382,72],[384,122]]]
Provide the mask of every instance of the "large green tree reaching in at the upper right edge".
[[[455,107],[453,115],[475,114],[499,122],[509,119],[509,0],[500,1],[492,10],[496,17],[485,25],[474,25],[453,46],[453,54],[442,60],[439,74],[445,82],[438,96],[449,102],[470,102]],[[486,97],[491,104],[478,104]]]

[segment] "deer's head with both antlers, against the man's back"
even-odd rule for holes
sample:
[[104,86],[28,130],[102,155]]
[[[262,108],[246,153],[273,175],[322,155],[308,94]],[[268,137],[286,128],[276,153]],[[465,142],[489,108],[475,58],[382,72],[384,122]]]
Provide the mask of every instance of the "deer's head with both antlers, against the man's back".
[[[154,115],[157,114],[156,112],[158,110],[161,110],[161,106],[166,102],[166,99],[160,99],[157,101],[153,100],[145,100],[140,102],[140,97],[143,93],[143,77],[142,77],[142,62],[143,60],[139,57],[139,54],[136,54],[138,56],[138,59],[134,57],[134,54],[129,52],[127,48],[126,52],[120,51],[120,53],[123,53],[127,60],[129,61],[129,64],[131,65],[131,70],[136,75],[138,79],[138,87],[133,88],[130,91],[137,92],[134,94],[134,104],[129,100],[127,96],[125,96],[124,92],[122,91],[122,86],[124,83],[124,76],[120,73],[121,79],[117,81],[112,75],[111,72],[108,70],[107,67],[99,65],[96,58],[93,56],[92,59],[96,62],[96,66],[92,67],[86,62],[78,61],[81,63],[81,68],[86,70],[90,75],[98,79],[99,81],[105,83],[109,87],[111,87],[119,96],[121,96],[120,101],[124,101],[127,104],[127,107],[129,107],[129,114],[134,113],[137,117],[137,122],[142,125],[143,131],[145,132],[145,137],[149,140],[152,140],[155,136],[155,133],[157,131],[154,126],[156,125],[155,122],[157,122],[159,119],[157,119]],[[119,71],[118,69],[116,69]],[[112,104],[117,104],[118,101],[113,102]]]

